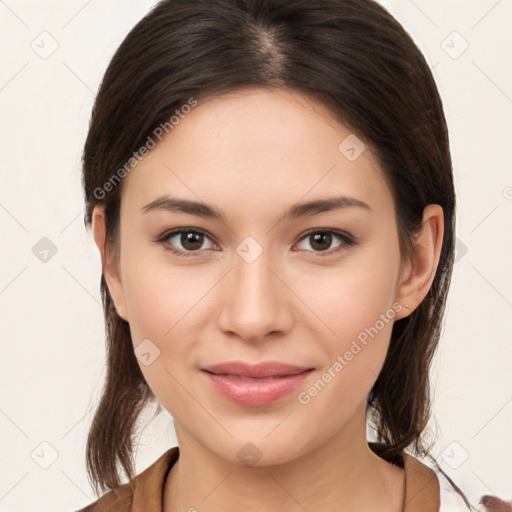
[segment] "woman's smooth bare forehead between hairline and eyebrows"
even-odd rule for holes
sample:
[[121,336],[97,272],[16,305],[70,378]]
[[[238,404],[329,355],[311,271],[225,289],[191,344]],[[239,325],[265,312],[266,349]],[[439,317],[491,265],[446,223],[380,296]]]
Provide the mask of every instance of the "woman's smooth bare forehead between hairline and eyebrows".
[[389,209],[383,173],[363,148],[311,97],[247,88],[182,114],[129,173],[122,202],[140,210],[169,193],[254,213],[337,193]]

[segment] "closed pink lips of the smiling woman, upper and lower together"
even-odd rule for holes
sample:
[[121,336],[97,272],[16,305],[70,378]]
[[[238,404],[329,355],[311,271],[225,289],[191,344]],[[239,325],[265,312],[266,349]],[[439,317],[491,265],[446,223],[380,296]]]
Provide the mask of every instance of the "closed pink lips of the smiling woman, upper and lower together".
[[232,361],[202,368],[201,372],[226,398],[241,405],[261,406],[290,393],[312,370],[274,361],[256,365]]

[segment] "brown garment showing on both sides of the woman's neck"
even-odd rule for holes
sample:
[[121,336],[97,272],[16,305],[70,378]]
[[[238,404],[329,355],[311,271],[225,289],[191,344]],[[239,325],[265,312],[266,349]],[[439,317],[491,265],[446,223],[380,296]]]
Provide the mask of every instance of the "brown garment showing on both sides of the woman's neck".
[[[380,445],[368,444],[379,455]],[[165,480],[178,457],[179,447],[170,448],[136,475],[133,490],[123,484],[77,512],[163,512]],[[431,468],[405,452],[388,462],[405,468],[405,512],[439,512],[439,480]]]

